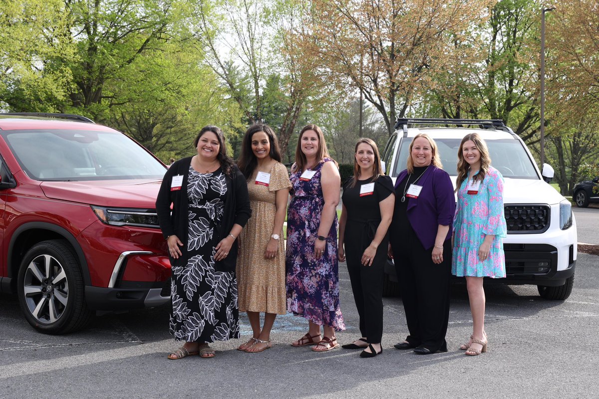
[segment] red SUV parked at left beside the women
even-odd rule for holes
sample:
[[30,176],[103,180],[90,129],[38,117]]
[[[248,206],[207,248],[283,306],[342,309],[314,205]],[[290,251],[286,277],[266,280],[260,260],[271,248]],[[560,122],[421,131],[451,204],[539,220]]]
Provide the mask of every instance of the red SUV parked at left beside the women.
[[170,301],[155,200],[166,167],[78,115],[0,114],[0,292],[43,333]]

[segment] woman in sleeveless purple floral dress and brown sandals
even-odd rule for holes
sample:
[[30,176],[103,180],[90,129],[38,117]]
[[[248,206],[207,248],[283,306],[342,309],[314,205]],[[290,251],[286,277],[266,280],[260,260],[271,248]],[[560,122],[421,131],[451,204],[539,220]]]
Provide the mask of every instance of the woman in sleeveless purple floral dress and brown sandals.
[[320,127],[310,124],[299,133],[290,179],[287,309],[309,321],[308,333],[291,345],[316,344],[313,351],[330,351],[339,346],[335,331],[345,329],[339,307],[337,260],[340,176]]

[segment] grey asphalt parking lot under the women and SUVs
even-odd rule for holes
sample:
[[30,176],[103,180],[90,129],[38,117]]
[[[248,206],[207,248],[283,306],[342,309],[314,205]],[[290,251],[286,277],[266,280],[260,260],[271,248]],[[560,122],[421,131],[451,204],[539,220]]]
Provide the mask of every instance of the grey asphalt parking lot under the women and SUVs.
[[[406,334],[400,298],[385,299],[383,354],[317,354],[289,345],[303,319],[277,318],[273,348],[246,354],[242,340],[214,344],[214,359],[167,360],[177,345],[168,309],[96,318],[66,336],[36,333],[14,297],[0,296],[1,398],[597,398],[599,257],[579,254],[574,291],[564,302],[541,300],[533,286],[487,288],[489,353],[466,357],[470,334],[464,285],[452,287],[445,354],[419,356],[393,344]],[[344,266],[341,343],[359,336]],[[250,333],[242,317],[243,338]]]

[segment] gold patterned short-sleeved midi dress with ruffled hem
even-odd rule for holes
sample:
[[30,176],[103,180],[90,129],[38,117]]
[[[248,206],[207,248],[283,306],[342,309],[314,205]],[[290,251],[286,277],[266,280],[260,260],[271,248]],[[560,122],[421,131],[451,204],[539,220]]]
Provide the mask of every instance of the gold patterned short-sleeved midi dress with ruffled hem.
[[242,312],[287,312],[283,230],[279,232],[277,255],[265,259],[264,252],[273,234],[276,191],[288,187],[291,182],[287,168],[279,162],[271,167],[268,186],[256,183],[255,175],[247,181],[252,217],[240,234],[237,259],[238,305]]

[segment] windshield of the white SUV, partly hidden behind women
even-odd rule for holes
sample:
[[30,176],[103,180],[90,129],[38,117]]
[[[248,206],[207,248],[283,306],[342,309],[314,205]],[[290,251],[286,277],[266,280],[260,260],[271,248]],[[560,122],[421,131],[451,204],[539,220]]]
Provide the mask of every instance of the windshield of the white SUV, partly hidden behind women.
[[[397,176],[402,170],[406,169],[408,159],[408,151],[412,138],[401,139],[400,156],[397,161],[394,174]],[[458,174],[458,149],[461,139],[438,138],[435,143],[439,149],[443,170],[449,173],[450,176]],[[515,179],[539,179],[536,170],[533,166],[533,161],[528,157],[527,151],[524,150],[519,140],[500,139],[487,140],[489,147],[489,155],[491,156],[491,166],[501,172],[506,178]]]

